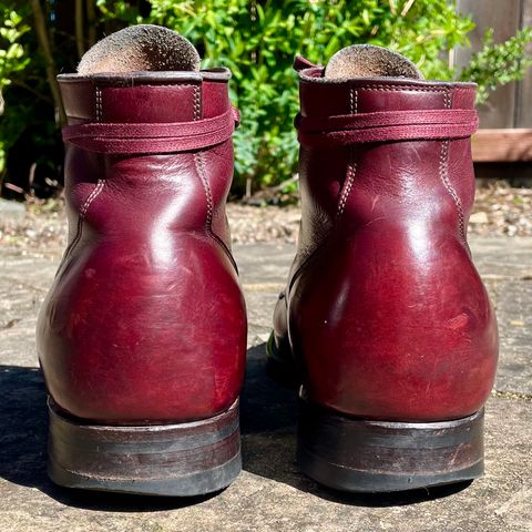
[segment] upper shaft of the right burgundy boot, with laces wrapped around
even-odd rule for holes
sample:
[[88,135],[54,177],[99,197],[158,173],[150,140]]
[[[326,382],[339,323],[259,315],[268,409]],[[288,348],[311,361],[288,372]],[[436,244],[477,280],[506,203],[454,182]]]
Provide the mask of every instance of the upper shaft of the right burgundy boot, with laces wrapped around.
[[303,238],[319,217],[345,237],[378,223],[466,243],[475,85],[320,75],[300,72]]

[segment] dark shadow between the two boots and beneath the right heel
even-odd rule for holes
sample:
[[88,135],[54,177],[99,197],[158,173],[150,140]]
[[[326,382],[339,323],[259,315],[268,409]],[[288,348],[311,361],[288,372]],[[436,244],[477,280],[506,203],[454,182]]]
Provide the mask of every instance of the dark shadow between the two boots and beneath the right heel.
[[458,493],[471,481],[392,493],[346,493],[305,477],[296,464],[297,392],[266,374],[266,345],[248,350],[241,396],[244,470],[283,482],[321,499],[354,507],[416,504]]

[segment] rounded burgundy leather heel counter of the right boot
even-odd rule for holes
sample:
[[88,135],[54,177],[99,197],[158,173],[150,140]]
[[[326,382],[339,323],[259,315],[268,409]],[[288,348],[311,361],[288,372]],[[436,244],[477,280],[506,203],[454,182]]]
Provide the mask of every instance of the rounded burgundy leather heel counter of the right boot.
[[442,237],[418,262],[399,234],[395,245],[381,236],[337,245],[295,283],[289,328],[304,388],[319,405],[370,419],[477,411],[494,380],[498,336],[467,250]]

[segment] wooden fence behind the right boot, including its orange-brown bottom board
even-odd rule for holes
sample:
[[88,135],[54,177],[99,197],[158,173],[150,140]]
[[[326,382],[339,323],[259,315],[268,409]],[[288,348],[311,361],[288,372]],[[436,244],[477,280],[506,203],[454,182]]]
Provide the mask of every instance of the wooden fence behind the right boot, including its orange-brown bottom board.
[[[501,42],[532,24],[532,0],[459,0],[458,8],[472,14],[477,28],[470,33],[472,48],[456,51],[457,65],[482,47],[488,28]],[[524,80],[497,89],[479,114],[481,129],[472,144],[477,162],[532,161],[532,70]]]

